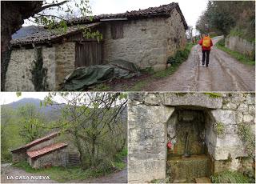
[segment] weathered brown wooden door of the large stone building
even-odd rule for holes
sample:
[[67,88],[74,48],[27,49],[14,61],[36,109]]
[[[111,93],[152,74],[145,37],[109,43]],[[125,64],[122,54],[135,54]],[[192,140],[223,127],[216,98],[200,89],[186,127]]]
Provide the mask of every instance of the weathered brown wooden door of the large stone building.
[[77,42],[75,46],[75,67],[101,65],[102,61],[102,43]]

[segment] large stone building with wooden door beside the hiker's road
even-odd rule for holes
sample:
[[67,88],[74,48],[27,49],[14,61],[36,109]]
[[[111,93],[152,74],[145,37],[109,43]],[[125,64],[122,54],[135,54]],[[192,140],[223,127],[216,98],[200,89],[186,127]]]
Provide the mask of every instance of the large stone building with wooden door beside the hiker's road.
[[[68,24],[66,34],[41,30],[11,41],[6,91],[56,90],[75,68],[117,59],[140,69],[163,70],[167,58],[186,46],[187,25],[178,3],[93,20],[76,18]],[[84,38],[84,27],[98,30],[102,40]]]

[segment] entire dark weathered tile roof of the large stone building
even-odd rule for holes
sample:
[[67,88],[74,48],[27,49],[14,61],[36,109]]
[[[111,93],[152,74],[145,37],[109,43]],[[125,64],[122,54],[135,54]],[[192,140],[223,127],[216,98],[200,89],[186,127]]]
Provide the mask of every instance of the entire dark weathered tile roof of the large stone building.
[[[68,30],[66,34],[61,34],[53,30],[42,30],[38,31],[34,34],[30,34],[23,38],[17,38],[12,39],[10,41],[11,46],[18,46],[18,45],[26,45],[31,43],[46,43],[54,40],[61,39],[63,36],[68,34],[75,34],[77,31],[79,31],[78,26],[74,26],[77,24],[86,24],[87,27],[97,26],[99,22],[102,22],[104,19],[111,20],[116,18],[126,18],[127,20],[136,20],[136,19],[142,19],[142,18],[154,18],[154,17],[170,17],[171,11],[178,10],[178,13],[182,17],[182,23],[185,26],[185,29],[187,30],[188,26],[186,24],[186,20],[182,14],[182,10],[180,10],[178,3],[170,3],[168,5],[162,5],[158,7],[150,7],[145,10],[133,10],[133,11],[127,11],[126,13],[122,14],[100,14],[95,15],[92,17],[86,16],[82,18],[73,18],[70,19],[67,24],[69,25]],[[98,23],[97,23],[98,22]]]

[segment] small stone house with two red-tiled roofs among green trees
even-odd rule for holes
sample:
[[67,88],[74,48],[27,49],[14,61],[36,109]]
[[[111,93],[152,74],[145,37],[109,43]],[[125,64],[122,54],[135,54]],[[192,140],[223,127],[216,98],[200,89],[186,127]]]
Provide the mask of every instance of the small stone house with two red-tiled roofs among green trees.
[[70,142],[63,141],[60,134],[54,132],[11,150],[13,162],[27,161],[33,168],[78,165],[78,152]]

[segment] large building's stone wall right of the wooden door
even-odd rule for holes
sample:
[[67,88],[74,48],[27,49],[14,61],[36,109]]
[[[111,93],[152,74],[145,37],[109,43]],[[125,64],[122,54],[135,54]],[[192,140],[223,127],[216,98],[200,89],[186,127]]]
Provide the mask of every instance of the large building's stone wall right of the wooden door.
[[170,18],[148,18],[123,22],[123,38],[112,39],[111,26],[104,34],[104,61],[124,59],[141,69],[166,69],[167,58],[186,44],[182,18],[174,10]]

